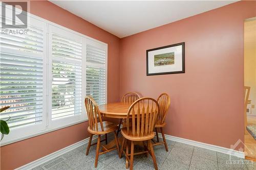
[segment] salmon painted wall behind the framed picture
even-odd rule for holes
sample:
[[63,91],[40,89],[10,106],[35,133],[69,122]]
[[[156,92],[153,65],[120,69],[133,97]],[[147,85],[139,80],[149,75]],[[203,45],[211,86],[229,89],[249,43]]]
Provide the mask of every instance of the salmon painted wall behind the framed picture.
[[[241,1],[121,39],[120,96],[171,97],[165,134],[230,148],[244,141],[244,19]],[[153,18],[152,18],[153,19]],[[185,42],[185,74],[146,76],[146,50]]]

